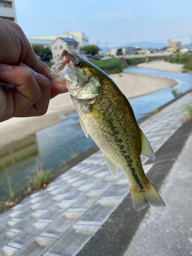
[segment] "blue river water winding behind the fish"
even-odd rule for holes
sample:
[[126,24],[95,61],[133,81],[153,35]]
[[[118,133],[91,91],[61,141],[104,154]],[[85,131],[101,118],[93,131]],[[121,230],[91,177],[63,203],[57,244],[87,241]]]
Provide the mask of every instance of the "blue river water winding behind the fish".
[[[180,92],[191,88],[192,74],[169,73],[157,70],[128,67],[124,72],[145,74],[173,78],[178,82],[175,87]],[[136,119],[140,119],[148,112],[174,99],[172,89],[130,99]],[[54,169],[83,153],[95,145],[91,138],[87,138],[79,124],[76,112],[59,116],[63,122],[48,127],[26,139],[9,145],[4,152],[0,152],[0,202],[9,198],[7,174],[11,178],[14,191],[26,187],[37,169]]]

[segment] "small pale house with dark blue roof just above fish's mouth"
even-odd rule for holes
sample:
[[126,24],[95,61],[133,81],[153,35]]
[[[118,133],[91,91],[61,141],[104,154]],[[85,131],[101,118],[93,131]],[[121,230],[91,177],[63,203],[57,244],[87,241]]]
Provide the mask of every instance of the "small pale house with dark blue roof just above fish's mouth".
[[71,38],[57,37],[51,44],[53,60],[58,59],[64,49],[79,54],[79,43]]

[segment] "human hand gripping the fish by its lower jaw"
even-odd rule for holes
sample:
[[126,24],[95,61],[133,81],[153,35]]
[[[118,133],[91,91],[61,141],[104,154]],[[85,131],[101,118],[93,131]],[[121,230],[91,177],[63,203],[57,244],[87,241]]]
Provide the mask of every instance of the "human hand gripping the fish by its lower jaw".
[[45,114],[50,98],[67,92],[66,84],[49,81],[51,69],[36,57],[18,25],[0,18],[0,30],[0,121]]

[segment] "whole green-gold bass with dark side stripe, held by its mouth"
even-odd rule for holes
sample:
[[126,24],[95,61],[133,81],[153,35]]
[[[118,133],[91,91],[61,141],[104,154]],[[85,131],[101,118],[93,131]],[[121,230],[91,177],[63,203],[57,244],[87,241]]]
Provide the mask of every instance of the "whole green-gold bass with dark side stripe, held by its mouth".
[[139,125],[130,102],[102,70],[78,54],[63,50],[52,66],[51,81],[66,82],[84,134],[100,148],[110,172],[120,168],[126,176],[133,206],[165,206],[147,180],[140,155],[155,160],[155,154]]

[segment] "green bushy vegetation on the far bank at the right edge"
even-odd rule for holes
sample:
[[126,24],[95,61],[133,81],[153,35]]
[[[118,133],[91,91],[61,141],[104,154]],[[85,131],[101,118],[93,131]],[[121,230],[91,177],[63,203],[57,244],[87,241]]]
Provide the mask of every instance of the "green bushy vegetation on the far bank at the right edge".
[[192,54],[177,54],[170,55],[165,58],[165,61],[171,63],[183,64],[186,72],[192,71]]

